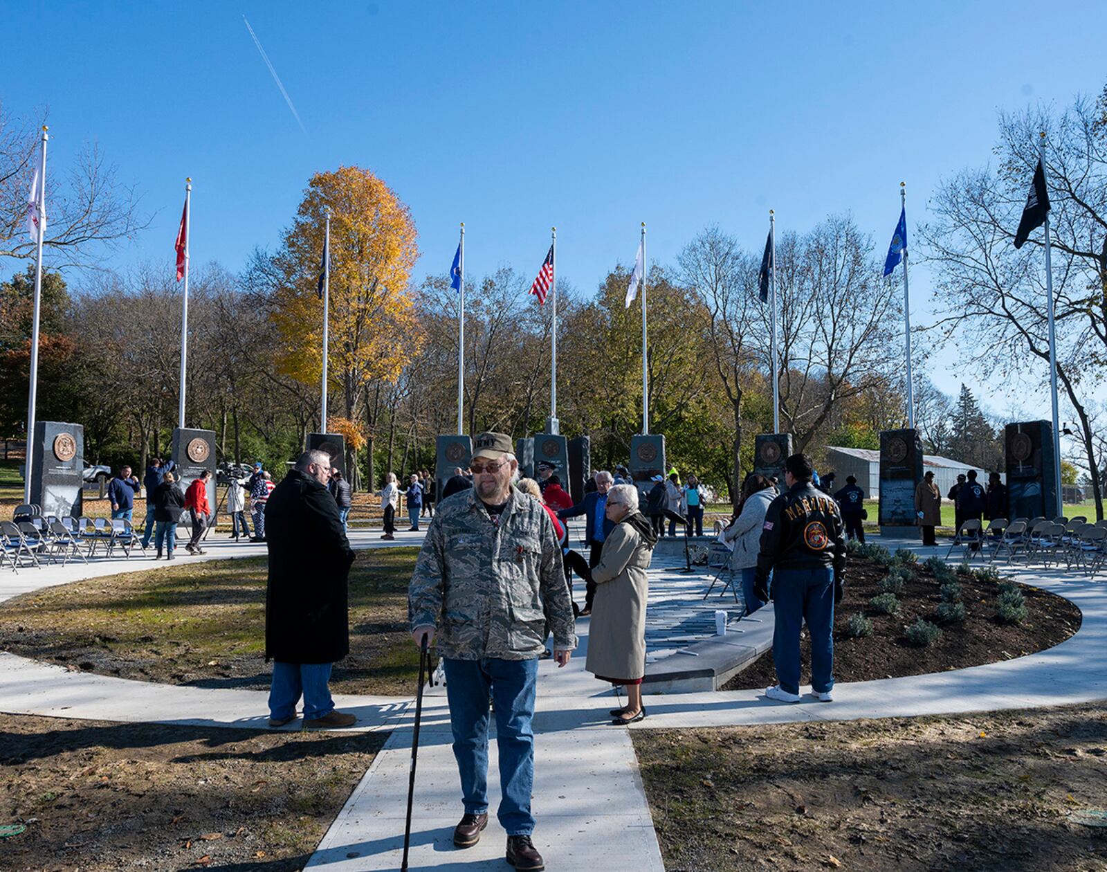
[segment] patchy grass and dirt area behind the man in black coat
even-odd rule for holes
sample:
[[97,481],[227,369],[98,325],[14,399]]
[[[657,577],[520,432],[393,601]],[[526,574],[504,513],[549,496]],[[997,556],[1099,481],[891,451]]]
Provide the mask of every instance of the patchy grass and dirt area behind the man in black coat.
[[[183,552],[182,552],[183,553]],[[408,695],[418,652],[407,635],[417,550],[359,551],[350,571],[350,654],[337,693]],[[265,558],[189,563],[44,588],[0,604],[0,650],[71,669],[196,687],[269,686]]]

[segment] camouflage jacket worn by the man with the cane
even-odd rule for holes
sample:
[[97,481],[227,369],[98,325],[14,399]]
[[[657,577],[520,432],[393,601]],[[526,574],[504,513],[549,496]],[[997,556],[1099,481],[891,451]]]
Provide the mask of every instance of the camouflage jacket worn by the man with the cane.
[[453,660],[530,660],[547,627],[557,648],[577,646],[572,604],[554,523],[514,488],[497,525],[476,490],[445,499],[427,528],[407,592],[412,630],[436,626]]

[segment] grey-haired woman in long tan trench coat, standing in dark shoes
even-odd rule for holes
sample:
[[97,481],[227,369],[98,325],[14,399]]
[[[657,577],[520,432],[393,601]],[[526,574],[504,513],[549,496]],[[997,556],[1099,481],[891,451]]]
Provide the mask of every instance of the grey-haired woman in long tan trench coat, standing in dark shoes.
[[592,569],[596,599],[584,668],[600,681],[627,687],[627,705],[611,710],[611,723],[624,725],[645,717],[645,571],[658,539],[650,521],[638,510],[638,489],[633,485],[615,485],[608,490],[604,512],[615,528],[604,539],[600,562]]

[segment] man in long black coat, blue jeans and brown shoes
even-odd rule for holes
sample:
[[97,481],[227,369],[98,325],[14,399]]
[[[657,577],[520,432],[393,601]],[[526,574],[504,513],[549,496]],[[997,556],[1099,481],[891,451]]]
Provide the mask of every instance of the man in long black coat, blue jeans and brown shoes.
[[273,661],[269,726],[296,719],[303,696],[304,727],[349,727],[334,708],[331,664],[350,652],[346,579],[353,551],[327,489],[327,451],[304,451],[266,505],[269,583],[266,660]]

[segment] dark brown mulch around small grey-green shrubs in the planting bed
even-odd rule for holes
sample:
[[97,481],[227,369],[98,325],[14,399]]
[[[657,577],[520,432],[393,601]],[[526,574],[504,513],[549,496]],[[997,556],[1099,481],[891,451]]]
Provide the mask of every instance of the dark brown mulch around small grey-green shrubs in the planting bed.
[[[879,581],[887,570],[869,561],[850,557],[846,593],[835,606],[834,674],[839,682],[867,682],[902,675],[923,675],[965,666],[979,666],[1011,660],[1053,647],[1080,629],[1080,610],[1068,600],[1038,588],[1021,585],[1028,616],[1022,624],[1001,624],[995,619],[997,585],[975,577],[959,575],[966,617],[963,623],[941,624],[942,637],[927,647],[908,643],[904,630],[915,617],[937,621],[934,610],[941,602],[939,584],[921,564],[914,581],[899,595],[898,615],[873,612],[869,599],[878,594]],[[870,636],[851,639],[846,632],[849,616],[863,612],[872,621]],[[800,684],[810,683],[810,640],[806,630],[800,642],[803,673]],[[773,656],[761,657],[735,675],[723,689],[768,687],[776,684]]]

